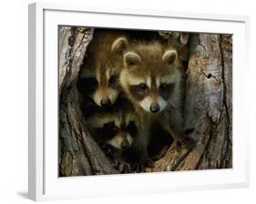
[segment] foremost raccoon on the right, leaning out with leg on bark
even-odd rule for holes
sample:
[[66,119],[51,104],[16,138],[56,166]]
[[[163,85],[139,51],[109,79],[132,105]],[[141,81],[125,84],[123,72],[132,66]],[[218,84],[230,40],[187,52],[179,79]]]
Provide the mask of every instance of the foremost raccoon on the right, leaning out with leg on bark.
[[189,140],[181,131],[181,68],[175,49],[158,41],[137,42],[129,45],[124,55],[120,84],[138,116],[148,121],[144,125],[144,134],[148,134],[148,124],[159,123],[189,148]]

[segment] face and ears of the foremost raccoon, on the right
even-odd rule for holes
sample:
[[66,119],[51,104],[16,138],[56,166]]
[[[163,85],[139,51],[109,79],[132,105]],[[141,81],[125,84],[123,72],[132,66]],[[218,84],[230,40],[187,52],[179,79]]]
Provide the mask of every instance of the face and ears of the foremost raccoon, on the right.
[[180,77],[175,67],[176,59],[175,50],[148,58],[135,52],[125,54],[126,68],[122,71],[120,80],[131,100],[150,113],[158,113],[171,104]]

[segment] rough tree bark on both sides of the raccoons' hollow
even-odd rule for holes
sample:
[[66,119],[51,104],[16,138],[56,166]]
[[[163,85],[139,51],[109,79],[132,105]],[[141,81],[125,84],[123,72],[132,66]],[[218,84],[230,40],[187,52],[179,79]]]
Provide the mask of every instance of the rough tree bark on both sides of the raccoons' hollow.
[[[59,28],[60,176],[118,173],[87,132],[79,107],[77,76],[92,38],[91,29]],[[191,34],[188,47],[184,128],[194,129],[196,146],[171,144],[148,172],[232,167],[232,38]]]

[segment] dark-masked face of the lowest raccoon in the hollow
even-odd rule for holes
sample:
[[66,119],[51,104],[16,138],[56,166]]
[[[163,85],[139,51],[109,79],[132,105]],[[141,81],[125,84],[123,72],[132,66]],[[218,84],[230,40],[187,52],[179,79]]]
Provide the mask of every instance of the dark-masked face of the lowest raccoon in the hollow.
[[125,150],[129,148],[138,134],[136,121],[132,116],[100,114],[88,119],[88,128],[99,143]]

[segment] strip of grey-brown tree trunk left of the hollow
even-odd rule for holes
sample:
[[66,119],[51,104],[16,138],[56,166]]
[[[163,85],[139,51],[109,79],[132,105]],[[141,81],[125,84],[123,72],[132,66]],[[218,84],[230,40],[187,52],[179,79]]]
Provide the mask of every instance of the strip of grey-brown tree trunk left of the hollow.
[[113,174],[108,158],[89,135],[81,115],[77,76],[93,30],[59,27],[59,175]]

